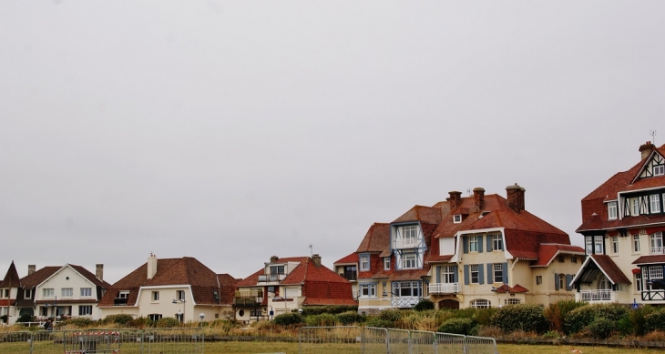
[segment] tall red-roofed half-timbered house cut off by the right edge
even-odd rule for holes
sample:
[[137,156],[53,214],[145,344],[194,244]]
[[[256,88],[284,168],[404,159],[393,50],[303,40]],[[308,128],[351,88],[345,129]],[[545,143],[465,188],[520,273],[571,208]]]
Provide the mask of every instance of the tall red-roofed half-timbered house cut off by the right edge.
[[665,145],[582,199],[588,258],[573,279],[579,300],[665,304]]

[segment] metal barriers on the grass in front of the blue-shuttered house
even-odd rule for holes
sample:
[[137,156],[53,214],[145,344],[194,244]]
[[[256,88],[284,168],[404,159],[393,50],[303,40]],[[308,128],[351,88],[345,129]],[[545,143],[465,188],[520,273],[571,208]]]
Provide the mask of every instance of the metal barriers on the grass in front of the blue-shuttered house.
[[497,354],[493,338],[371,327],[303,327],[300,354]]

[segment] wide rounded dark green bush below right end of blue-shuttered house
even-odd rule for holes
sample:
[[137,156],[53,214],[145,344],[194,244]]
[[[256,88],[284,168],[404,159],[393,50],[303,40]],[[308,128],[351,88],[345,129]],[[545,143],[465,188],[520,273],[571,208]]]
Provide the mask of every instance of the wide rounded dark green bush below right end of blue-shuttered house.
[[504,333],[523,330],[540,334],[549,327],[549,322],[545,318],[545,308],[537,304],[517,304],[498,308],[492,316],[491,324]]

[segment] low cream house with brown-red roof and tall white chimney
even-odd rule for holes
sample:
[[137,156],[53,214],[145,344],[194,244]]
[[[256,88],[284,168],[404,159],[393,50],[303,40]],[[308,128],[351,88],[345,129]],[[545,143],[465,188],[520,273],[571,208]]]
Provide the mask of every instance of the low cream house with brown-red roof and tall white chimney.
[[237,281],[196,258],[158,259],[150,254],[146,263],[108,289],[99,309],[103,317],[128,314],[183,322],[232,318]]

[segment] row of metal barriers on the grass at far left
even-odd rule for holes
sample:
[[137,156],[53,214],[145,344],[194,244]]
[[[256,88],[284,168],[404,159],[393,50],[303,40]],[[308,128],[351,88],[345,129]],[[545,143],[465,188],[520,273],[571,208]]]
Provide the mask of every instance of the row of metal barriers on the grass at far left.
[[0,352],[30,354],[203,353],[203,329],[77,329],[0,333]]

